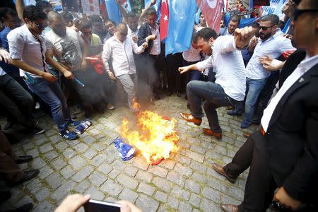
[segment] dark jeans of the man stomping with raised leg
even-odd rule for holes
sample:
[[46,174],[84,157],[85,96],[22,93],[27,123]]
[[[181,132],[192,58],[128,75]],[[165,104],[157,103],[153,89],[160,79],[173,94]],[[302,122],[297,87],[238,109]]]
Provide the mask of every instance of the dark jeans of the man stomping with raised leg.
[[190,104],[191,114],[196,118],[204,117],[201,108],[201,98],[204,98],[204,111],[208,118],[208,124],[212,131],[221,132],[218,124],[218,114],[216,108],[235,105],[237,100],[230,98],[217,83],[204,81],[190,81],[187,84],[188,102]]

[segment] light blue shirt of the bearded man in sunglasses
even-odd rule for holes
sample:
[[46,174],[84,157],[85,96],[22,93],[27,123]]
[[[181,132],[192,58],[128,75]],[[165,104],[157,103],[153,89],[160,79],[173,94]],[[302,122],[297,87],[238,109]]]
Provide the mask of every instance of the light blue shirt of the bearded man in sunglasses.
[[269,55],[275,59],[285,51],[295,50],[290,39],[283,37],[282,35],[283,33],[281,33],[281,30],[277,30],[275,35],[268,40],[263,41],[259,39],[259,42],[254,49],[254,53],[246,67],[246,76],[248,78],[263,79],[271,74],[271,72],[266,71],[259,62],[259,57]]

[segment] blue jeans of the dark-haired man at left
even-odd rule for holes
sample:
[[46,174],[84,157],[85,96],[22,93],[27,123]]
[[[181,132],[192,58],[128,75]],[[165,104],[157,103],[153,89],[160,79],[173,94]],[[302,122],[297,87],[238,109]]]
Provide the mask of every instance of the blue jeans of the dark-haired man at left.
[[52,112],[52,117],[59,131],[64,131],[67,129],[67,122],[71,119],[69,109],[66,104],[66,98],[64,93],[61,91],[61,87],[55,81],[54,83],[49,83],[45,81],[44,78],[34,78],[34,82],[27,83],[30,90],[38,95],[44,102],[49,105]]

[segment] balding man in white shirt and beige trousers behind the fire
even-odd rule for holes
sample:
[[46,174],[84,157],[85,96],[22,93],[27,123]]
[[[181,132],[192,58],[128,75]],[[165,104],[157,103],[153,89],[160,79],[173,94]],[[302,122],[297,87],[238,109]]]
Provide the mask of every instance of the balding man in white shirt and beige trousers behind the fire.
[[[118,24],[117,33],[114,33],[114,36],[105,42],[102,51],[102,61],[110,78],[117,78],[120,83],[122,83],[128,95],[131,111],[138,112],[139,108],[134,107],[134,103],[136,102],[137,77],[133,52],[135,54],[141,54],[141,52],[148,47],[148,44],[144,42],[143,45],[138,47],[130,37],[127,37],[127,31],[128,29],[125,23]],[[110,71],[108,64],[110,59],[114,73]]]

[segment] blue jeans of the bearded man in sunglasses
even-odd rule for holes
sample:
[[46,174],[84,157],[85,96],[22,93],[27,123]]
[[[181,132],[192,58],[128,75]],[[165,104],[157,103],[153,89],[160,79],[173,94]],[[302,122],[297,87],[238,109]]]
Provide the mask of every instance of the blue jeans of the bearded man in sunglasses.
[[[255,110],[255,105],[257,103],[257,98],[259,97],[259,93],[261,93],[261,89],[264,88],[266,84],[267,78],[262,78],[258,80],[254,80],[252,78],[246,78],[246,89],[247,95],[245,100],[245,114],[243,118],[243,122],[245,124],[252,123],[252,117]],[[240,105],[235,105],[235,107],[242,107]]]

